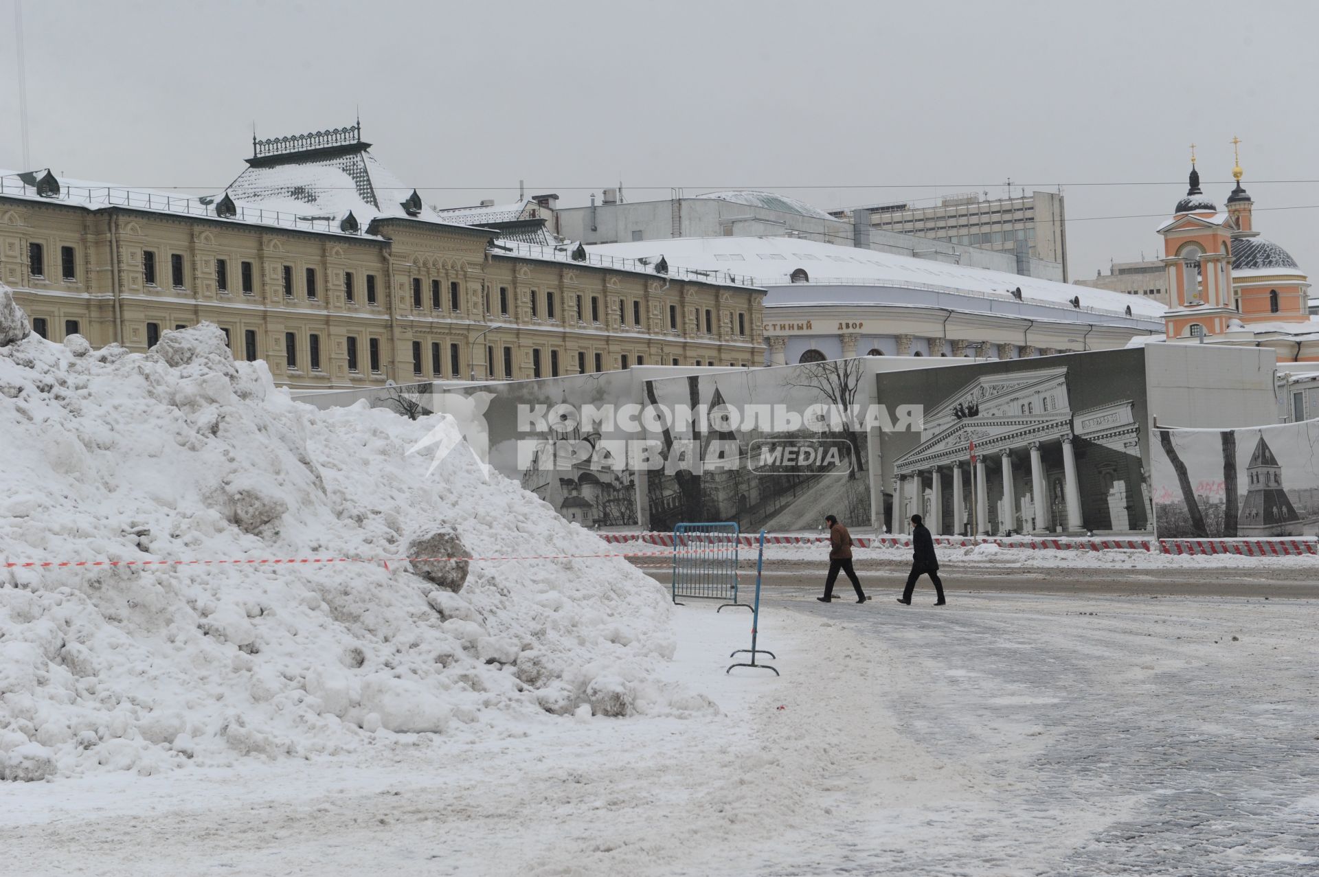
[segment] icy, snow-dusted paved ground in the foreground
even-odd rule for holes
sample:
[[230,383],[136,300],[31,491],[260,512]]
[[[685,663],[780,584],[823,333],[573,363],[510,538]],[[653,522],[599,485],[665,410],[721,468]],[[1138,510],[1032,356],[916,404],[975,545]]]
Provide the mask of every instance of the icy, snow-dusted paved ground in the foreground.
[[774,591],[679,611],[723,715],[379,735],[0,786],[22,874],[1279,874],[1319,869],[1319,601]]

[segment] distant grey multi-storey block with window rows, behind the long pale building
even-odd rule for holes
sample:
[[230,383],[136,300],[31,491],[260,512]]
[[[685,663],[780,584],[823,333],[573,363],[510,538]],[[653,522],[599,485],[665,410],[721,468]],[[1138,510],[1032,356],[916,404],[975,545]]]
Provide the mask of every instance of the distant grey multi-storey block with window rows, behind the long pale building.
[[[906,202],[834,211],[860,223],[869,216],[872,228],[933,240],[979,247],[1012,255],[1018,274],[1045,276],[1042,264],[1055,262],[1067,282],[1067,226],[1063,197],[1035,191],[1017,198],[989,199],[977,193],[942,198],[938,206],[918,207]],[[1034,268],[1033,265],[1039,265]]]

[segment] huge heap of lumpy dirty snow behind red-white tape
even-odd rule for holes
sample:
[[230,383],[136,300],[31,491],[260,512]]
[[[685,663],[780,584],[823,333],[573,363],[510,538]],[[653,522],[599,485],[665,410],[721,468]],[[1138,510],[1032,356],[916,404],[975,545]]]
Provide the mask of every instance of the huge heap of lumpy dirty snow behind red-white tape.
[[[476,558],[609,550],[470,454],[426,477],[430,455],[405,452],[443,415],[299,405],[214,326],[146,355],[21,328],[0,347],[3,562],[397,558],[427,537]],[[0,775],[712,708],[652,680],[670,607],[625,560],[472,560],[458,579],[359,562],[0,568]]]

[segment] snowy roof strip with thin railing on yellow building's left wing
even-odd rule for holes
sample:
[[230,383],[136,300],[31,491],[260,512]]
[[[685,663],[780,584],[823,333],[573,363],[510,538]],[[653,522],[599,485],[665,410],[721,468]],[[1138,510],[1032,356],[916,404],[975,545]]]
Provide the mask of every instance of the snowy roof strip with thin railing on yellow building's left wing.
[[[226,222],[278,226],[297,231],[332,232],[335,235],[353,233],[340,227],[338,216],[303,216],[278,210],[265,210],[235,204],[233,215],[220,215],[215,210],[219,197],[198,198],[197,195],[170,195],[158,191],[138,191],[120,186],[69,186],[61,182],[59,193],[44,195],[36,186],[28,185],[15,174],[0,175],[0,195],[38,198],[46,202],[75,204],[88,208],[128,207],[153,212],[182,214],[185,216],[204,216]],[[361,235],[361,232],[356,232]]]

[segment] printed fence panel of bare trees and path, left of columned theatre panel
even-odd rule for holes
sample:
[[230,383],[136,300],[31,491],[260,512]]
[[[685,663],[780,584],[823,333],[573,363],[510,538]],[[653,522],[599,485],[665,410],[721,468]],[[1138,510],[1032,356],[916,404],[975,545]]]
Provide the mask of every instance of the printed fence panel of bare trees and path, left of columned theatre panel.
[[[860,360],[648,381],[657,410],[707,411],[649,425],[661,467],[646,472],[650,528],[736,521],[743,530],[814,530],[826,514],[871,524],[869,392]],[[855,411],[853,411],[855,414]]]

